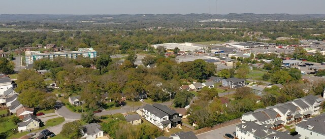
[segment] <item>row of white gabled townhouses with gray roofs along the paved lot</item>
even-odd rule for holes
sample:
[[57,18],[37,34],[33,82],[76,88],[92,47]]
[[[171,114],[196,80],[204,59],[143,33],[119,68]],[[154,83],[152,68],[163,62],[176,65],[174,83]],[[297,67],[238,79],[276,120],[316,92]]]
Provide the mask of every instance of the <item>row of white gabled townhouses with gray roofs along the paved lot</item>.
[[302,118],[309,118],[311,115],[319,114],[320,103],[323,101],[323,98],[309,95],[286,103],[278,103],[266,109],[258,109],[243,114],[242,123],[254,121],[256,124],[266,125],[277,130],[284,125],[290,125],[294,122],[299,123]]

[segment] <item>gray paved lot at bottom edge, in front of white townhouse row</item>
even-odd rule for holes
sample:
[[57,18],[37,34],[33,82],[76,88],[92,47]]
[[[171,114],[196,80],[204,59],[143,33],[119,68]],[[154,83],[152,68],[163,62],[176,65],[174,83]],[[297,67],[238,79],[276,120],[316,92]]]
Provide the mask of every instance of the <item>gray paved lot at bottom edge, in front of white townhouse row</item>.
[[197,136],[199,139],[224,139],[223,135],[225,133],[230,133],[233,135],[233,132],[236,131],[236,125],[238,124],[240,124],[240,122],[226,127],[218,128],[206,133],[198,134]]

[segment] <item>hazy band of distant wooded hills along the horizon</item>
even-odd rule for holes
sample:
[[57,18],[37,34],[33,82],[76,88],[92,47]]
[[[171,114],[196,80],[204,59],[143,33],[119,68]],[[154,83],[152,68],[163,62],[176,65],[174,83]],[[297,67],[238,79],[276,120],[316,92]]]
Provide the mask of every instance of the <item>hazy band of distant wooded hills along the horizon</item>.
[[0,15],[0,21],[39,21],[39,22],[196,22],[208,19],[232,19],[241,21],[265,21],[265,20],[324,20],[325,14],[289,15],[289,14],[235,14],[211,15],[211,14],[146,14],[146,15]]

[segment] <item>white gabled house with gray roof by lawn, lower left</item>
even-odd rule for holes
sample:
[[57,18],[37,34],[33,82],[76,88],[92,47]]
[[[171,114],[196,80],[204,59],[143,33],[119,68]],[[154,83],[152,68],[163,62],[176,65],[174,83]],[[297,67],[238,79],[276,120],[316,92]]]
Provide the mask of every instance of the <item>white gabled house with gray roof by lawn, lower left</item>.
[[28,114],[17,125],[19,132],[31,131],[40,128],[40,120],[36,116]]

